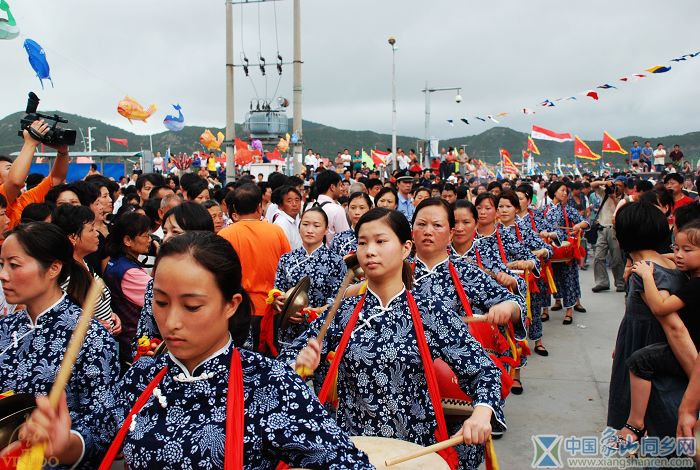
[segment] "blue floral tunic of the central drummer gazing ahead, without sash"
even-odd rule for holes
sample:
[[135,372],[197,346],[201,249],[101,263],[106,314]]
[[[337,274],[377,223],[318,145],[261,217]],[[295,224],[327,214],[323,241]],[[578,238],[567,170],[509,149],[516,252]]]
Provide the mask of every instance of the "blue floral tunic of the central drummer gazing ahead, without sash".
[[[432,357],[441,358],[455,372],[460,387],[475,406],[488,406],[504,422],[501,407],[500,371],[467,326],[441,302],[415,296]],[[343,300],[328,329],[322,360],[334,351],[360,297]],[[311,324],[278,359],[292,363],[315,336],[323,319]],[[428,394],[425,370],[418,351],[406,290],[387,306],[367,289],[366,298],[338,371],[337,420],[350,435],[380,436],[427,446],[435,443],[435,412]],[[460,446],[461,447],[461,446]],[[481,458],[482,446],[472,457]],[[476,468],[479,461],[466,468]]]

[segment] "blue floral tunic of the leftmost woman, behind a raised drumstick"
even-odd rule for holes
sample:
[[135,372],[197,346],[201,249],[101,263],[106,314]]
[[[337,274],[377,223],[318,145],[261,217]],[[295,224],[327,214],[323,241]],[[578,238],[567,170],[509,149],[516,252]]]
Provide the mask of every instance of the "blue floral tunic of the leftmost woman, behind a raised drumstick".
[[[32,322],[26,310],[0,318],[0,392],[48,395],[81,309],[64,295]],[[101,403],[119,377],[116,342],[97,320],[91,322],[73,368],[66,398],[72,431],[85,443],[78,468],[96,468],[108,429]]]

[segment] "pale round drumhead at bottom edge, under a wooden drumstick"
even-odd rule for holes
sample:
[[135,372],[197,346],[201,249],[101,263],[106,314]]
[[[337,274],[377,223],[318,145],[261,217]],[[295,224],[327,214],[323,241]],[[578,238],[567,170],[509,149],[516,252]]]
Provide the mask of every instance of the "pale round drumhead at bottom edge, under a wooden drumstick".
[[351,436],[350,440],[358,449],[367,454],[370,463],[378,470],[449,470],[450,468],[447,462],[435,453],[387,467],[384,465],[385,460],[415,452],[423,447],[412,442],[386,437]]

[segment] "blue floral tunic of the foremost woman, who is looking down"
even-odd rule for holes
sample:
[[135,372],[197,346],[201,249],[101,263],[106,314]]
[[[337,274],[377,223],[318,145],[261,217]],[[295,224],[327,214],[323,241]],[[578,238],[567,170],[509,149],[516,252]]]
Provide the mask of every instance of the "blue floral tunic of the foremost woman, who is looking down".
[[[198,365],[193,374],[170,354],[137,361],[106,404],[114,436],[151,380],[168,367],[138,412],[124,440],[131,469],[220,469],[224,464],[226,399],[233,343]],[[369,469],[356,449],[321,407],[311,389],[288,366],[238,350],[244,396],[244,469],[291,467]]]

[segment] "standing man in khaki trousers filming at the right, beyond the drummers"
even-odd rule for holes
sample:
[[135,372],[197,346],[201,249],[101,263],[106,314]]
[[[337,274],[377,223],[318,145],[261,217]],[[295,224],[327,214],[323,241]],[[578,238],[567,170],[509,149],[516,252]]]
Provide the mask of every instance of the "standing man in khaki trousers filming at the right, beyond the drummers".
[[606,267],[606,259],[608,253],[610,253],[610,270],[613,273],[615,290],[624,292],[625,260],[615,236],[613,222],[615,208],[627,193],[627,178],[618,176],[614,180],[593,181],[591,182],[591,188],[603,199],[597,216],[591,221],[591,230],[598,230],[598,240],[595,245],[593,260],[595,285],[591,290],[593,292],[610,290],[610,278]]

